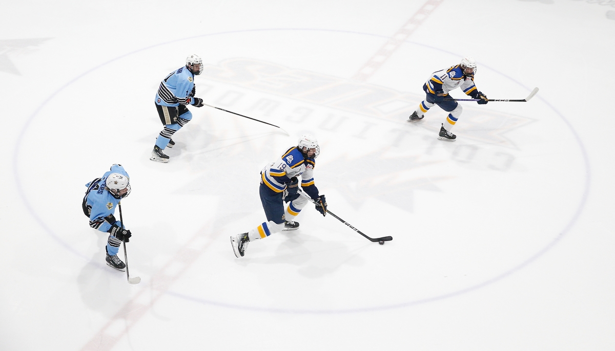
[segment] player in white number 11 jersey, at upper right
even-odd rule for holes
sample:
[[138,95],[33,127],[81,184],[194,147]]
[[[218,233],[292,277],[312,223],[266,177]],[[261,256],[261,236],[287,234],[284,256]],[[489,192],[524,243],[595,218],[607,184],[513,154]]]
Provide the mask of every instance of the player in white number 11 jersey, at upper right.
[[478,91],[474,85],[474,74],[477,71],[477,64],[474,58],[466,56],[461,62],[448,69],[442,69],[432,73],[427,82],[423,85],[423,90],[426,93],[426,99],[419,104],[418,109],[410,115],[408,122],[422,120],[425,113],[434,107],[440,106],[441,109],[449,112],[446,117],[446,125],[442,123],[438,139],[446,141],[455,141],[457,136],[451,133],[451,129],[457,123],[461,116],[461,105],[457,101],[453,101],[448,93],[456,88],[472,96],[474,99],[480,99],[478,104],[486,104],[488,102],[485,94]]

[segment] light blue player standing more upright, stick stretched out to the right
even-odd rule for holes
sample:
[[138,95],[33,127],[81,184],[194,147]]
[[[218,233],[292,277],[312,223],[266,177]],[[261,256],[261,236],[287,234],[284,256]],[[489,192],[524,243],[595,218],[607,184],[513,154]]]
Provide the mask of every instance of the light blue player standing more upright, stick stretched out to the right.
[[203,72],[203,60],[197,55],[186,58],[186,66],[171,72],[160,83],[156,93],[156,109],[164,128],[156,138],[149,160],[167,163],[166,147],[173,147],[172,136],[192,119],[188,105],[203,107],[203,99],[195,98],[194,76]]

